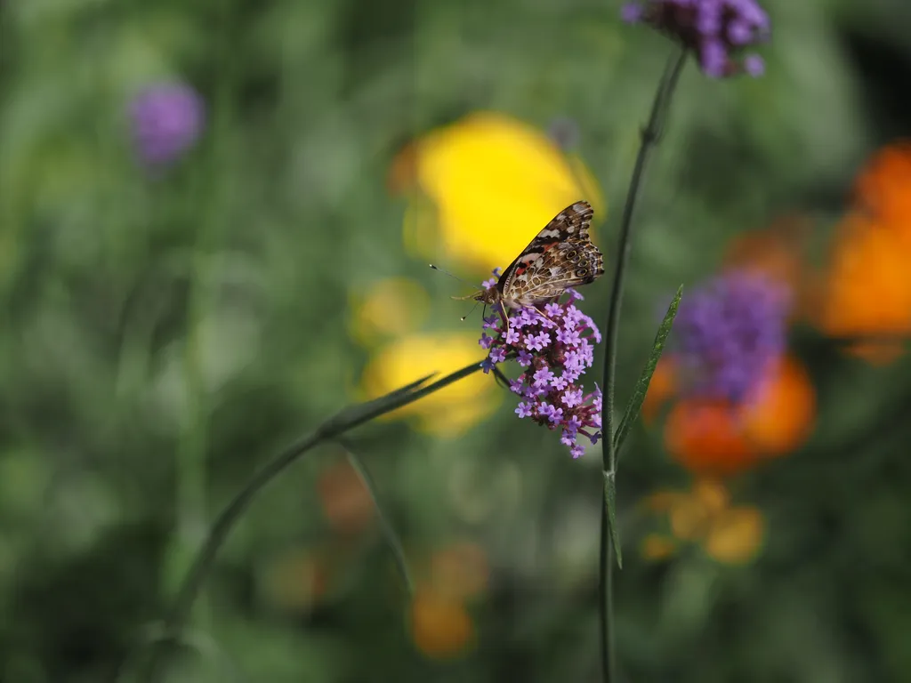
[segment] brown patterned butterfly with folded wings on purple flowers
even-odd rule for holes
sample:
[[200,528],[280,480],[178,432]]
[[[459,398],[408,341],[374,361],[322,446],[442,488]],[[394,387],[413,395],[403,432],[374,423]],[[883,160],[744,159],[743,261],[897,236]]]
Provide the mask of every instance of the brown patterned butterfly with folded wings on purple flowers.
[[465,297],[500,308],[520,309],[557,301],[568,287],[589,284],[604,274],[601,252],[589,237],[594,210],[577,201],[537,233],[496,285]]

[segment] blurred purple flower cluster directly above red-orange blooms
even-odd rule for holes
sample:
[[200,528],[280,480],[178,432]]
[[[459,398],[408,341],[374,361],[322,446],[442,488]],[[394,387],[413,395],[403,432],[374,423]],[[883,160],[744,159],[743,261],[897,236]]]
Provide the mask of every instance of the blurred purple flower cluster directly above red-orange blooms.
[[788,307],[786,291],[757,273],[725,273],[691,291],[673,327],[684,390],[734,403],[754,395],[784,352]]

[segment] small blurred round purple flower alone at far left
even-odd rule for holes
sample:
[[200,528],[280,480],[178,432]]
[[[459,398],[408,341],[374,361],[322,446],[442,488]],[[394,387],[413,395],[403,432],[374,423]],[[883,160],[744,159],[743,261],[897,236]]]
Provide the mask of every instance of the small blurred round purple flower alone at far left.
[[129,103],[133,143],[149,168],[169,166],[193,146],[205,122],[200,95],[186,84],[148,86]]

